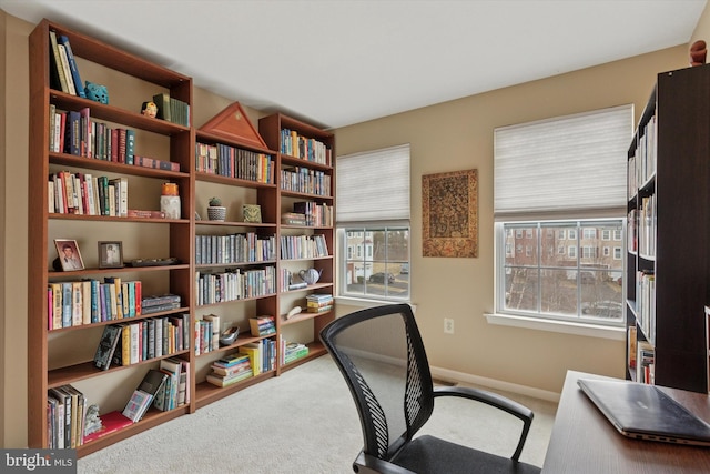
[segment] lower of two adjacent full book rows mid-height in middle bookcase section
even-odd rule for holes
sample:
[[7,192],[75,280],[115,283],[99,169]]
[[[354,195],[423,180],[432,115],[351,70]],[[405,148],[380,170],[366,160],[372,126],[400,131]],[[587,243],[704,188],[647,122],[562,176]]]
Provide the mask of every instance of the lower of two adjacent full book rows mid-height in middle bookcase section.
[[222,273],[196,272],[197,305],[215,304],[276,292],[276,269],[233,269]]

